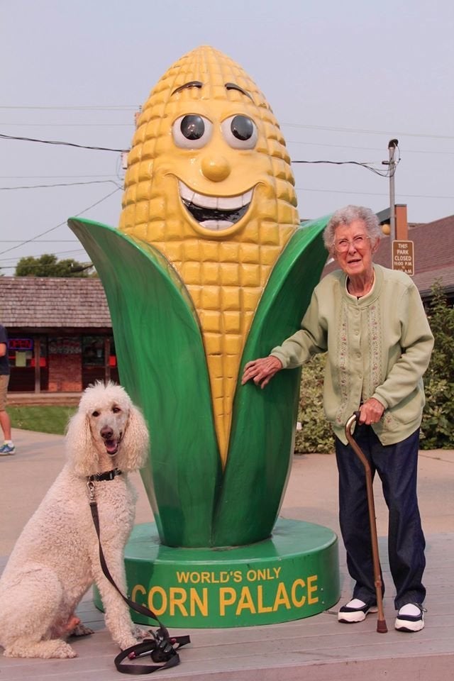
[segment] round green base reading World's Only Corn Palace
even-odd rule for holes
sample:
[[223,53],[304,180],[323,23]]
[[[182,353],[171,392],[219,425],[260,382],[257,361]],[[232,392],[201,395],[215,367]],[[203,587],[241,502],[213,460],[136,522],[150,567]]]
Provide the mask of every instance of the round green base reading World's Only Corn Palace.
[[[341,595],[338,540],[326,527],[279,519],[272,537],[234,548],[171,548],[155,524],[135,526],[125,551],[133,601],[165,626],[220,628],[292,621]],[[99,592],[94,603],[102,609]],[[138,624],[155,621],[131,611]]]

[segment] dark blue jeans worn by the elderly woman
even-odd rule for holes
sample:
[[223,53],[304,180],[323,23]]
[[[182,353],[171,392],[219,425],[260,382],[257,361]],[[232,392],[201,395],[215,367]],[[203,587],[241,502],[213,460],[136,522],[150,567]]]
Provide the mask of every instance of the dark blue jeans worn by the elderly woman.
[[[354,439],[380,476],[389,510],[388,555],[396,587],[396,609],[407,603],[422,604],[426,589],[421,582],[426,558],[416,496],[419,429],[395,445],[384,446],[370,426],[356,426]],[[347,567],[355,580],[353,598],[376,603],[374,567],[367,508],[364,466],[350,445],[336,438],[339,472],[339,521]],[[384,592],[384,587],[383,587]]]

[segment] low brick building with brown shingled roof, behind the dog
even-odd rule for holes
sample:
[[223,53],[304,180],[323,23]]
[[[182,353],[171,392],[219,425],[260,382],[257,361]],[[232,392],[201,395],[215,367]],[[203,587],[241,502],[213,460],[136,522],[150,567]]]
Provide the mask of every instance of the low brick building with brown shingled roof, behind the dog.
[[112,324],[99,279],[1,277],[11,392],[80,392],[117,380]]

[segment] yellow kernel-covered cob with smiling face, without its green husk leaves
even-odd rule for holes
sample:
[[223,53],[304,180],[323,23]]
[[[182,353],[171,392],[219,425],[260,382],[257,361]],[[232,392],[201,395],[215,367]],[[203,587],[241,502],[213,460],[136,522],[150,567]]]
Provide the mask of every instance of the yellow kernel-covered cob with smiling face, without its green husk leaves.
[[223,466],[245,340],[296,206],[282,133],[248,74],[207,46],[178,60],[138,118],[120,228],[157,248],[194,302]]

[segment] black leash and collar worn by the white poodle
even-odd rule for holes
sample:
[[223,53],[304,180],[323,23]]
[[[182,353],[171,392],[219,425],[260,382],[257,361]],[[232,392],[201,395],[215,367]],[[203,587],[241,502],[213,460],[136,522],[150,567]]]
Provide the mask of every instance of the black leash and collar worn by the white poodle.
[[[102,571],[104,572],[104,576],[106,577],[107,580],[109,580],[109,582],[116,589],[118,594],[121,595],[123,601],[125,601],[128,604],[128,606],[131,609],[135,610],[136,612],[145,615],[146,617],[150,617],[151,619],[154,619],[159,625],[159,628],[156,631],[150,629],[150,633],[153,636],[153,638],[145,638],[141,643],[136,643],[134,646],[126,648],[126,650],[121,650],[121,653],[118,653],[118,655],[116,656],[114,663],[118,672],[121,672],[122,674],[135,675],[151,674],[152,672],[157,672],[160,669],[168,669],[170,667],[176,667],[177,665],[179,665],[180,660],[177,650],[179,650],[179,648],[182,648],[182,646],[186,646],[187,643],[191,643],[191,639],[189,638],[189,636],[170,636],[169,632],[167,631],[167,628],[162,624],[160,619],[158,619],[157,615],[152,610],[148,609],[143,605],[140,605],[140,603],[135,603],[130,598],[125,596],[120,589],[118,589],[114,581],[114,578],[109,572],[109,567],[107,567],[106,558],[104,558],[104,552],[101,546],[99,513],[98,504],[96,504],[94,482],[101,480],[114,480],[117,475],[121,475],[121,470],[115,468],[114,470],[110,470],[105,473],[90,475],[87,478],[87,489],[90,510],[92,511],[93,524],[96,530],[96,535],[98,536],[99,562],[101,563],[101,568]],[[133,660],[135,658],[140,658],[143,655],[147,655],[148,653],[150,653],[153,662],[158,664],[155,665],[122,664],[123,660],[125,660],[126,658]]]

